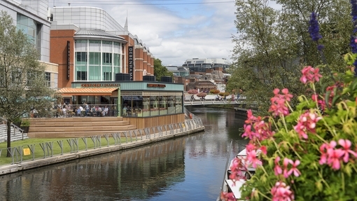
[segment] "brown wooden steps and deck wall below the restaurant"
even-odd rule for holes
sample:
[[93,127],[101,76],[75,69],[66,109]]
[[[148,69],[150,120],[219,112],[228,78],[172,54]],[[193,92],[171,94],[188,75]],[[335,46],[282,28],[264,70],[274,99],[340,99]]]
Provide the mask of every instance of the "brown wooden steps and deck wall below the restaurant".
[[88,137],[99,134],[143,129],[158,125],[169,125],[185,121],[185,115],[175,114],[148,118],[123,117],[73,117],[73,118],[30,118],[28,137],[69,138]]

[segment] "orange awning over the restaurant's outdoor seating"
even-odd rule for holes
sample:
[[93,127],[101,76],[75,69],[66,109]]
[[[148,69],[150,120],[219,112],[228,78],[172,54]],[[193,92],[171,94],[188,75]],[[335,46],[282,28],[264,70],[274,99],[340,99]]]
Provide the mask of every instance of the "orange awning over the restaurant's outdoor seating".
[[57,90],[63,97],[69,96],[110,96],[118,88],[62,88]]

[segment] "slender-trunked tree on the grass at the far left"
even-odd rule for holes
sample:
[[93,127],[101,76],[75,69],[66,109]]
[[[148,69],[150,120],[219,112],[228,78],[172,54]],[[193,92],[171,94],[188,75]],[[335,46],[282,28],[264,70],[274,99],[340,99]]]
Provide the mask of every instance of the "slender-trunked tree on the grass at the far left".
[[[26,34],[17,30],[5,11],[0,13],[0,116],[7,121],[7,147],[11,123],[24,113],[50,105],[53,91],[47,87],[45,67]],[[46,98],[45,98],[46,97]],[[9,152],[8,152],[9,156]]]

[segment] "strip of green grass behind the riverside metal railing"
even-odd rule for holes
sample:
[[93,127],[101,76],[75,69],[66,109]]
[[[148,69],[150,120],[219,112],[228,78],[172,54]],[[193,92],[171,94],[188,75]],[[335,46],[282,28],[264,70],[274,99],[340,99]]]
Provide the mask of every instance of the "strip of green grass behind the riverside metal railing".
[[[138,137],[139,139],[139,137]],[[65,155],[66,153],[71,153],[71,149],[72,152],[77,152],[77,146],[71,146],[69,145],[69,142],[67,140],[70,140],[70,138],[56,138],[56,139],[39,139],[39,138],[31,138],[31,139],[24,139],[24,140],[18,140],[18,141],[12,141],[11,142],[11,147],[12,148],[17,148],[18,151],[15,151],[14,155],[15,155],[15,163],[20,162],[21,161],[21,155],[20,155],[20,151],[22,153],[23,149],[25,148],[29,148],[29,147],[34,147],[34,154],[30,154],[30,155],[22,155],[22,161],[26,161],[26,160],[33,160],[33,158],[38,159],[38,158],[48,158],[51,155],[60,155],[62,154],[62,148],[63,148],[63,155]],[[135,139],[133,139],[134,141]],[[61,143],[62,141],[62,148],[61,146],[59,146],[59,143]],[[130,139],[128,139],[128,141],[130,141]],[[105,137],[101,138],[101,147],[106,147],[106,146],[114,146],[115,145],[115,140],[113,139],[113,137],[109,137],[109,142],[106,141]],[[125,137],[121,137],[120,138],[120,143],[126,143],[127,140],[125,139]],[[99,148],[99,141],[96,141],[97,143],[97,148]],[[118,144],[118,143],[117,143]],[[43,148],[41,148],[41,145],[45,148],[45,152],[43,151]],[[50,145],[52,145],[52,151],[49,148]],[[0,143],[0,166],[1,165],[10,165],[11,162],[13,162],[13,158],[11,157],[6,157],[6,146],[7,143],[6,142],[2,142]],[[87,150],[93,149],[94,148],[94,142],[92,141],[92,139],[90,137],[87,137]],[[85,146],[85,142],[83,141],[83,139],[79,138],[78,139],[78,151],[85,151],[86,146]]]

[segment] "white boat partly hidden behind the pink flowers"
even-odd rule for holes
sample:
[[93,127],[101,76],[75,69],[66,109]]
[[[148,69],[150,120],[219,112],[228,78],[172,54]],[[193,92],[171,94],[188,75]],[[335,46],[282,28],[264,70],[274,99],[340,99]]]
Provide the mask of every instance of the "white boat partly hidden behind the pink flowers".
[[[246,158],[246,148],[244,148],[244,150],[240,151],[237,155],[235,155],[235,158],[240,158],[242,162],[244,162],[244,159]],[[230,174],[232,174],[230,170],[230,166],[232,165],[232,162],[235,160],[235,158],[233,158],[232,160],[230,160],[230,162],[227,162],[226,164],[225,176],[221,187],[221,193],[218,196],[217,201],[223,201],[221,200],[221,195],[223,193],[231,193],[233,196],[232,197],[233,200],[241,199],[241,191],[239,189],[241,188],[241,186],[244,185],[246,179],[250,179],[251,176],[255,174],[255,168],[248,167],[246,171],[241,172],[242,176],[244,176],[245,179],[239,179],[239,180],[230,179]]]

